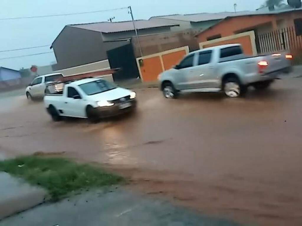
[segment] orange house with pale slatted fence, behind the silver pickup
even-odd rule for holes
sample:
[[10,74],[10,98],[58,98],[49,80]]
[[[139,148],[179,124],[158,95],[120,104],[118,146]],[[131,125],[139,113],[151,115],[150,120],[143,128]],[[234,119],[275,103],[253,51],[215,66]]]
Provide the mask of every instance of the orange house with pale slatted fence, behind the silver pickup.
[[[245,35],[247,33],[250,34]],[[284,46],[283,49],[288,49],[289,45],[296,44],[296,41],[291,42],[289,37],[296,39],[300,35],[302,35],[302,10],[290,8],[226,17],[201,31],[196,37],[200,47],[203,48],[241,43],[245,53],[254,55],[257,52],[275,51],[281,45]]]

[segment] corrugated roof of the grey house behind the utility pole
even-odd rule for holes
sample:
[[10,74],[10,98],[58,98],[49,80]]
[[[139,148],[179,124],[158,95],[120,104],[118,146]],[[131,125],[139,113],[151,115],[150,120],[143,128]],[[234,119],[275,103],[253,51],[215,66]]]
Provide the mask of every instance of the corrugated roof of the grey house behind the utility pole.
[[[71,24],[68,25],[71,27],[78,27],[87,30],[99,31],[103,33],[114,33],[114,32],[122,32],[122,31],[131,31],[134,30],[133,22],[131,21],[123,21],[123,22],[99,22],[92,24]],[[147,28],[155,28],[155,27],[173,27],[179,26],[177,23],[166,23],[166,22],[157,22],[151,20],[136,20],[135,26],[138,30],[147,29]]]

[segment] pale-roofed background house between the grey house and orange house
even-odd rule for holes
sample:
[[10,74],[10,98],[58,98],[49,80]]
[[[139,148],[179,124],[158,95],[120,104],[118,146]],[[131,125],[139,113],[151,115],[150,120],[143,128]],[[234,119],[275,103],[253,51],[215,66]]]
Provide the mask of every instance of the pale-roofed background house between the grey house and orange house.
[[198,13],[198,14],[174,14],[166,16],[155,16],[151,17],[149,20],[157,22],[173,22],[179,24],[177,27],[171,27],[172,31],[182,31],[186,29],[192,29],[196,33],[207,29],[220,20],[226,17],[234,15],[244,15],[249,14],[251,11],[240,11],[240,12],[220,12],[220,13]]

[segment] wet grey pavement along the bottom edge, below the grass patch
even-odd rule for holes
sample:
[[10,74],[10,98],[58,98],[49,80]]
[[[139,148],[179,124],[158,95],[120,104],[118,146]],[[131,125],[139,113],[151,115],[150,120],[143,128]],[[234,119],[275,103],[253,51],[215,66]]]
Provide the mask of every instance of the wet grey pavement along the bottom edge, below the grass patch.
[[136,195],[123,188],[98,190],[46,203],[0,221],[0,226],[116,226],[116,225],[209,225],[238,226],[201,216],[167,201]]

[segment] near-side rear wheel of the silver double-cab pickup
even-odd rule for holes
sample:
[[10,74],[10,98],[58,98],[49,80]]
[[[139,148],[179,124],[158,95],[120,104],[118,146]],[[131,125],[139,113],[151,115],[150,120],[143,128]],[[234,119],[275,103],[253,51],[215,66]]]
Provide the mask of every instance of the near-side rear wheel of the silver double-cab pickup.
[[222,83],[223,92],[227,97],[241,97],[246,94],[247,87],[242,85],[235,76],[227,77]]

